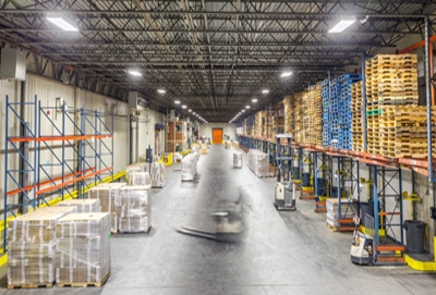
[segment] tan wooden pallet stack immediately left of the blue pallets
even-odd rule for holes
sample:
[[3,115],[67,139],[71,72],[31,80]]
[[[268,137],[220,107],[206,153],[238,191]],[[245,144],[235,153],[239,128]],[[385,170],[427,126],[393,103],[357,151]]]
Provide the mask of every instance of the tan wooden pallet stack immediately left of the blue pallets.
[[323,105],[320,83],[308,88],[308,144],[323,144]]

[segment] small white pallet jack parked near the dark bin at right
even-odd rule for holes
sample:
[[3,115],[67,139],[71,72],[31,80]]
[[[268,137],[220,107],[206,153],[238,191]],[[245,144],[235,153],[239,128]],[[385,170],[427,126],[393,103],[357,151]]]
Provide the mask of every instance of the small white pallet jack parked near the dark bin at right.
[[359,231],[361,219],[358,216],[353,217],[355,224],[353,241],[351,242],[350,257],[353,263],[363,266],[375,263],[374,259],[374,239],[372,236]]

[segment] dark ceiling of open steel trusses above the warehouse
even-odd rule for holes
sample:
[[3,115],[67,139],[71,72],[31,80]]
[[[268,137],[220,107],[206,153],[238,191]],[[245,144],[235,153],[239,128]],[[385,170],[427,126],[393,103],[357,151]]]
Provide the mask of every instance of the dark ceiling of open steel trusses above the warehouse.
[[[209,122],[228,122],[246,105],[253,110],[278,101],[327,78],[329,71],[335,76],[360,69],[362,52],[395,52],[403,38],[422,39],[423,15],[436,10],[435,1],[420,0],[7,0],[0,5],[1,46],[29,52],[29,71],[64,82],[66,75],[68,83],[122,100],[136,90],[152,106],[183,112],[173,103],[179,99]],[[62,15],[80,30],[63,32],[47,15]],[[356,22],[344,33],[328,33],[350,15]],[[133,77],[130,69],[143,76]],[[293,74],[282,78],[283,71]]]

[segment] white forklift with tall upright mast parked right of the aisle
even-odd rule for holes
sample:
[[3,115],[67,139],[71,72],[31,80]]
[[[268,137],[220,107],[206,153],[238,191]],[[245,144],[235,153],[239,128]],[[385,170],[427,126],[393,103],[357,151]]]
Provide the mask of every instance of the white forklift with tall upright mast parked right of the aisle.
[[[281,155],[281,139],[287,139],[287,155]],[[295,182],[291,180],[292,169],[290,134],[277,134],[276,136],[276,163],[277,163],[277,183],[275,186],[274,206],[278,211],[295,211]],[[288,163],[284,165],[284,161]],[[281,176],[281,170],[283,175]]]

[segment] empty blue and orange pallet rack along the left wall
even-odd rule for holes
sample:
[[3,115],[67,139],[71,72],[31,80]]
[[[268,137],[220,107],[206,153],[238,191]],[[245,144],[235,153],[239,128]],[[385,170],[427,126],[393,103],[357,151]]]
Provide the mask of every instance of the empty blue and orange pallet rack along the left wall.
[[[29,111],[32,127],[20,115],[21,108]],[[51,113],[61,118],[60,124],[50,118]],[[74,120],[75,114],[78,114],[78,124]],[[64,196],[71,197],[70,189],[74,186],[77,189],[77,197],[81,198],[86,188],[89,188],[86,180],[94,177],[94,183],[98,183],[102,182],[105,175],[113,180],[112,113],[88,111],[85,106],[76,110],[69,109],[65,102],[59,107],[43,107],[37,96],[31,102],[11,102],[7,96],[5,119],[4,192],[7,192],[7,197],[4,198],[3,253],[7,251],[5,226],[9,216],[16,217],[17,213],[25,213],[28,207],[35,210],[43,204],[49,206],[46,194],[58,193],[62,199]],[[10,120],[23,126],[24,136],[11,134]],[[43,124],[49,126],[48,130],[53,134],[44,132]],[[17,143],[28,144],[25,152],[20,149]],[[61,143],[60,150],[49,143]],[[43,163],[41,148],[45,148],[48,156],[55,159],[55,163],[48,161]],[[10,150],[17,153],[20,160],[24,162],[24,168],[9,168]],[[68,151],[71,155],[68,156]],[[51,168],[58,168],[60,173],[53,175],[49,172]],[[31,184],[21,182],[19,180],[21,175],[27,175]],[[9,187],[10,182],[12,189]],[[22,194],[23,201],[9,200],[16,194]]]

